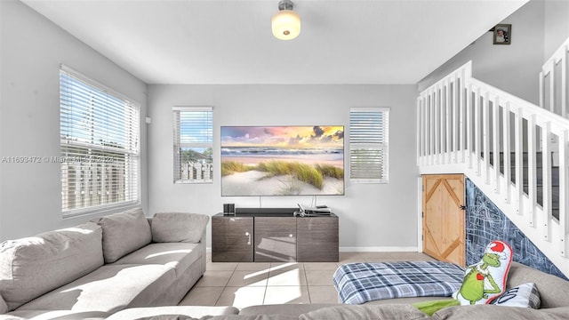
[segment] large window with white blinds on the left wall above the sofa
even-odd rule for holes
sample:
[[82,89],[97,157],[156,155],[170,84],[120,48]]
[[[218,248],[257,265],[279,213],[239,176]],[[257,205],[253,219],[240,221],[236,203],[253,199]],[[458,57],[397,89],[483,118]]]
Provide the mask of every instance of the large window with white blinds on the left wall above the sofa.
[[60,69],[64,217],[140,202],[140,105]]

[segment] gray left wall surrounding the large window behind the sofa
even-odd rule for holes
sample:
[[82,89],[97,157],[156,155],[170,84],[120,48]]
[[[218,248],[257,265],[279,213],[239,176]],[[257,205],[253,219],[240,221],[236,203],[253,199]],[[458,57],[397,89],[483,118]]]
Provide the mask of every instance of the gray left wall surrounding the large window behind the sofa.
[[[2,0],[0,159],[60,155],[60,64],[141,104],[142,205],[147,207],[146,84],[19,1]],[[74,226],[61,218],[59,164],[0,164],[0,240]]]

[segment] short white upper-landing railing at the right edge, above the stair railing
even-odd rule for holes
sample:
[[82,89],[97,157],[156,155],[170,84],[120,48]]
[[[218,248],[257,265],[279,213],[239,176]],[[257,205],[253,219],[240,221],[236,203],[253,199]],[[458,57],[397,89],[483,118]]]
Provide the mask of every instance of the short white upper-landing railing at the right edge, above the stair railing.
[[569,118],[569,38],[545,61],[540,72],[540,106]]

